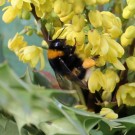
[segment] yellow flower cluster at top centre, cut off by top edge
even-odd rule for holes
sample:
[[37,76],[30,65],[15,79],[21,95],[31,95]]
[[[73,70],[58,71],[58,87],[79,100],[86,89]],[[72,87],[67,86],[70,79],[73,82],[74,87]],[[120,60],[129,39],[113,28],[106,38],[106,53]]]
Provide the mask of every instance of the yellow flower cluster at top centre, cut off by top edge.
[[54,12],[62,22],[72,20],[75,14],[81,14],[86,5],[105,4],[109,0],[56,0],[54,2]]

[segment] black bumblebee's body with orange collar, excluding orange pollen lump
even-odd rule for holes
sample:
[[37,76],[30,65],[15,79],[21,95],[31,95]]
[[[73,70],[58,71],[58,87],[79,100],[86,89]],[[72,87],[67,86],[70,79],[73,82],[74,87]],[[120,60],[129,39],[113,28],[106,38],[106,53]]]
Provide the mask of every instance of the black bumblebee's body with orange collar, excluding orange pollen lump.
[[65,39],[52,40],[48,49],[48,60],[56,77],[64,76],[87,89],[86,83],[82,81],[86,74],[84,61],[75,54],[75,49],[76,45],[66,45]]

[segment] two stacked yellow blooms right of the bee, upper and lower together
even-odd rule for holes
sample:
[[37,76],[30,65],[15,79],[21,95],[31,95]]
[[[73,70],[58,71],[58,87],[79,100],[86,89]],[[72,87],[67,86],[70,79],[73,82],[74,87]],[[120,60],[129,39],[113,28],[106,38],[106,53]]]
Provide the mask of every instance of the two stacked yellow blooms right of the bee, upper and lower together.
[[122,33],[120,19],[110,12],[94,10],[90,11],[89,20],[96,28],[88,32],[91,54],[100,55],[102,63],[107,61],[116,68],[124,70],[125,68],[118,60],[123,56],[124,49],[115,41],[115,38],[118,38]]

